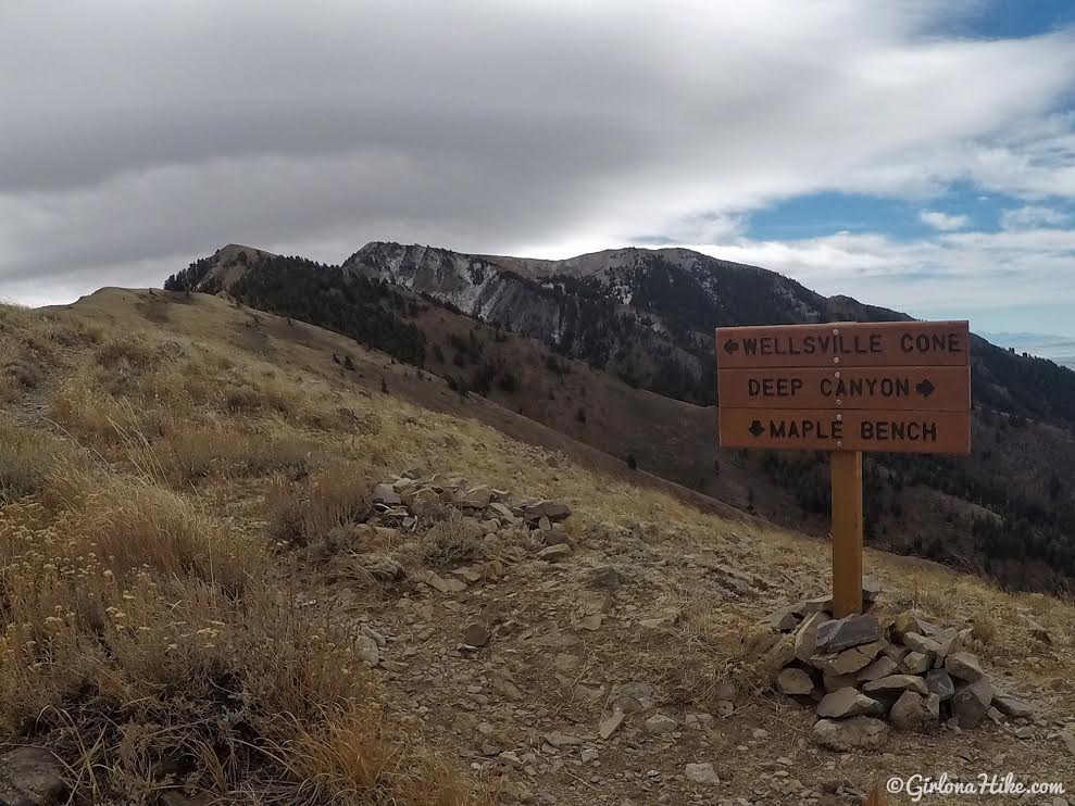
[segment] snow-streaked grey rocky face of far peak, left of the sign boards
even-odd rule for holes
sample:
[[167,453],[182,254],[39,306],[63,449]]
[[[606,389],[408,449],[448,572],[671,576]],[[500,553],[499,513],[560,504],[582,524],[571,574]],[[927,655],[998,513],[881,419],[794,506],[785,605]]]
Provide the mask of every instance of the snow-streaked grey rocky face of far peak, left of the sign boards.
[[540,339],[633,385],[701,403],[712,402],[714,325],[823,322],[835,310],[774,272],[686,249],[539,261],[374,242],[342,269]]

